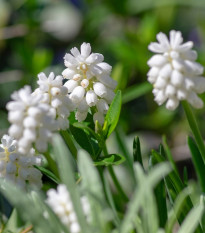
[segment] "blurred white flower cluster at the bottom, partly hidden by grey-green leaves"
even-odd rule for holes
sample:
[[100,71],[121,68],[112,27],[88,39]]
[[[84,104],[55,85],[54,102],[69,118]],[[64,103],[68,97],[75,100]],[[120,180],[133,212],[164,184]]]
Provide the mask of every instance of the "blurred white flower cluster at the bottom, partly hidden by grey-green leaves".
[[[81,231],[80,225],[66,186],[60,184],[57,187],[57,191],[50,189],[47,195],[48,198],[46,202],[62,223],[68,227],[71,233],[79,233]],[[81,205],[85,216],[89,217],[90,204],[86,197],[81,198]]]

